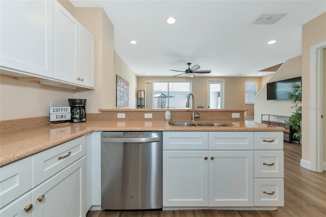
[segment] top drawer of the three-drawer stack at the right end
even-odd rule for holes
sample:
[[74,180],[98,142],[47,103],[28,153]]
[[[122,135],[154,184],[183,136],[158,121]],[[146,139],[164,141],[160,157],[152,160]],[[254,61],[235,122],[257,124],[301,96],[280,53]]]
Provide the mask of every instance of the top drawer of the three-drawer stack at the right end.
[[283,150],[283,132],[255,132],[256,150]]

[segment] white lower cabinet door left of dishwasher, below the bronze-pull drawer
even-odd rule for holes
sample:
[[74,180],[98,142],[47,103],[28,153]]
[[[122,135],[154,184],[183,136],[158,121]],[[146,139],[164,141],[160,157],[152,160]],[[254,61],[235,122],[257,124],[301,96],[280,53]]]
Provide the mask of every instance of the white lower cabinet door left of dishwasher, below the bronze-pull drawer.
[[86,157],[32,191],[32,216],[86,216]]

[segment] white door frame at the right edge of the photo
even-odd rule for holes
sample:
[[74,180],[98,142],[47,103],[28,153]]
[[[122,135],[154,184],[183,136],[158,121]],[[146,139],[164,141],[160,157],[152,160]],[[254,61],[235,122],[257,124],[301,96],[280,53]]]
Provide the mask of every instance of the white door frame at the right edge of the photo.
[[310,169],[322,172],[322,65],[326,41],[310,48]]

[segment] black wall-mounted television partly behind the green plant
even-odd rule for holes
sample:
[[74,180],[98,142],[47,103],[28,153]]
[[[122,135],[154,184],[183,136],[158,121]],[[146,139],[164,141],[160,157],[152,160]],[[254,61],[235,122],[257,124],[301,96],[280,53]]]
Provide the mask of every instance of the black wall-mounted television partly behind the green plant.
[[294,77],[278,82],[267,83],[267,100],[285,100],[288,99],[286,93],[291,92],[291,85],[300,84],[301,77]]

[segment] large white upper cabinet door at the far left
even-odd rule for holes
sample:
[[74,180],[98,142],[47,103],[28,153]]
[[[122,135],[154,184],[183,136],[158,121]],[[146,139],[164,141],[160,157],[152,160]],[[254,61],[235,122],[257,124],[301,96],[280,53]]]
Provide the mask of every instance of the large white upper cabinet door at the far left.
[[53,77],[52,1],[0,1],[2,67]]

